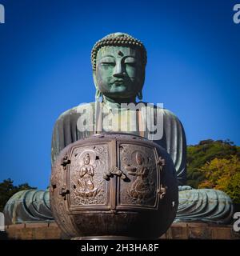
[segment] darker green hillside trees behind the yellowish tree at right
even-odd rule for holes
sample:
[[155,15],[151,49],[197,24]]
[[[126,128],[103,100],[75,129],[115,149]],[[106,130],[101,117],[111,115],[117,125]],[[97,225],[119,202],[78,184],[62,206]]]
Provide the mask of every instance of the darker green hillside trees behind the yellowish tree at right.
[[199,184],[205,180],[205,174],[201,168],[214,158],[230,159],[232,155],[240,158],[240,147],[235,146],[229,140],[214,141],[207,139],[198,145],[187,147],[187,185],[198,188]]

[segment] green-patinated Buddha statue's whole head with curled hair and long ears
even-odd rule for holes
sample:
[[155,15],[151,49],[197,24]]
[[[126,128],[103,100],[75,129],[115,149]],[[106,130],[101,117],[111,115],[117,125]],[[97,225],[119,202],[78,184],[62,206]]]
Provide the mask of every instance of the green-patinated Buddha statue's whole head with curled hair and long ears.
[[104,95],[114,102],[142,99],[146,49],[129,34],[114,33],[94,45],[91,54],[96,97]]

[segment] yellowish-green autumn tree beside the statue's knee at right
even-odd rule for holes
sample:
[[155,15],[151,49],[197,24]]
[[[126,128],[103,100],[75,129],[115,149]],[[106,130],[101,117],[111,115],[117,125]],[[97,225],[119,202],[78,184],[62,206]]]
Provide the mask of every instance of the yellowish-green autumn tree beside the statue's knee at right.
[[200,170],[206,179],[199,188],[222,190],[234,203],[240,203],[240,159],[237,155],[231,155],[229,159],[214,158]]

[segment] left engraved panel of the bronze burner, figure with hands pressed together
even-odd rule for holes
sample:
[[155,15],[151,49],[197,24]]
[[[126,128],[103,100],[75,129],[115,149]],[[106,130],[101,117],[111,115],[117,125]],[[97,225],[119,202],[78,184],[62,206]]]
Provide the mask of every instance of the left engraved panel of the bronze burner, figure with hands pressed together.
[[70,206],[106,205],[108,187],[102,174],[107,169],[107,145],[74,148],[70,162]]

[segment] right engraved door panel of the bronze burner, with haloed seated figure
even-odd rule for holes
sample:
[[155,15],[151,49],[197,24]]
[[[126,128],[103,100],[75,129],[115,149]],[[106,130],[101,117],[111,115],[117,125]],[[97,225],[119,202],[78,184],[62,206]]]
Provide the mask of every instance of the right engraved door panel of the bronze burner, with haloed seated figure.
[[120,170],[128,182],[120,181],[120,205],[156,207],[158,203],[158,167],[154,149],[121,144]]

